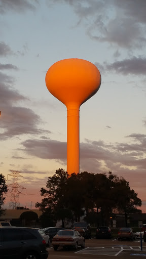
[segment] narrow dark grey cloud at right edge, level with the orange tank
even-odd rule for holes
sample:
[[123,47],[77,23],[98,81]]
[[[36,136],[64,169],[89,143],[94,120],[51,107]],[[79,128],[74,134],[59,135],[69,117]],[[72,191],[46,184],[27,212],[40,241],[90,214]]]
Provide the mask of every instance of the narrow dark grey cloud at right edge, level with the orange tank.
[[116,61],[112,64],[105,64],[106,71],[115,71],[124,75],[135,74],[145,75],[146,71],[146,58],[145,57],[132,57],[131,59],[124,59]]

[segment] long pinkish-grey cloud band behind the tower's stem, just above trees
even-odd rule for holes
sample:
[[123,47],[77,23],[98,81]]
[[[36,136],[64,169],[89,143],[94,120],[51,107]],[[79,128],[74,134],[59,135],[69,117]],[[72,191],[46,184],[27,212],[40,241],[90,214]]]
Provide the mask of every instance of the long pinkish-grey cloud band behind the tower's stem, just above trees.
[[[106,144],[103,141],[89,141],[80,144],[80,168],[90,167],[90,171],[119,170],[145,170],[146,135],[131,134],[127,136],[134,141],[131,144],[114,143]],[[137,143],[135,143],[137,141]],[[22,143],[27,155],[55,159],[66,163],[66,143],[55,140],[26,140]],[[86,161],[86,162],[85,162]],[[85,168],[87,165],[87,168]]]

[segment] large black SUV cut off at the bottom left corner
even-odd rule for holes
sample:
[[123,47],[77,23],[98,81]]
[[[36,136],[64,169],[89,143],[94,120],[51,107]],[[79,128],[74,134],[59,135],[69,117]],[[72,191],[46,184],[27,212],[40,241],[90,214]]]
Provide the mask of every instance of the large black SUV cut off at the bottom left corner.
[[33,228],[1,227],[1,259],[47,259],[46,242]]

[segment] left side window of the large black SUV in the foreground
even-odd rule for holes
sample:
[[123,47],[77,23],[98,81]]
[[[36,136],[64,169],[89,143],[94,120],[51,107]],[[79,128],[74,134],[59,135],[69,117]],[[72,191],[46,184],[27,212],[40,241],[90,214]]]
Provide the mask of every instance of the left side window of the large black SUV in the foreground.
[[19,229],[4,229],[4,242],[21,240],[22,235]]

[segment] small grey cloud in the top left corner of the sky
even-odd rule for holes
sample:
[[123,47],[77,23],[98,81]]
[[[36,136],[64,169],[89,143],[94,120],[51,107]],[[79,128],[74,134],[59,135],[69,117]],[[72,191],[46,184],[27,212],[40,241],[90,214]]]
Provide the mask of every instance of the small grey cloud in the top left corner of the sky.
[[38,0],[0,0],[0,13],[8,11],[25,12],[27,10],[35,11]]

